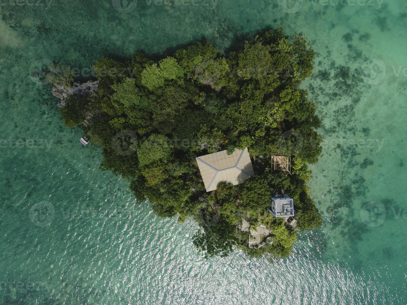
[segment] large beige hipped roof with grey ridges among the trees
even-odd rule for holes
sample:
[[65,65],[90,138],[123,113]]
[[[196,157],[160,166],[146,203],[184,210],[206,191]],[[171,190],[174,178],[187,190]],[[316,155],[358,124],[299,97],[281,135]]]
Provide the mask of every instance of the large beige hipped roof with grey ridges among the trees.
[[247,148],[235,150],[232,155],[222,150],[196,159],[206,192],[216,190],[221,181],[236,185],[254,174]]

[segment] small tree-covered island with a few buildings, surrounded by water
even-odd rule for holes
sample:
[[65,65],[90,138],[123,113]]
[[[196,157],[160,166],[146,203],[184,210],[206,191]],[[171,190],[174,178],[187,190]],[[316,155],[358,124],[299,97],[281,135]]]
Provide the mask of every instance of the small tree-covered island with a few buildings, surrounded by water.
[[[122,176],[160,217],[193,218],[205,257],[235,247],[287,257],[320,227],[308,164],[321,154],[316,105],[300,89],[315,51],[282,28],[221,56],[209,41],[151,60],[96,61],[97,81],[50,67],[66,126],[101,146],[101,170]],[[148,200],[148,201],[147,201]]]

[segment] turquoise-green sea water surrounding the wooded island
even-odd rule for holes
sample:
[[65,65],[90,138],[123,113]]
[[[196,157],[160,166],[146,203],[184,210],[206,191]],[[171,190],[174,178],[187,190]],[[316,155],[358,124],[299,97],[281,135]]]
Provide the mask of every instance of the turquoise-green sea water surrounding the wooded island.
[[[0,303],[406,304],[407,3],[139,0],[129,13],[117,3],[1,2]],[[274,262],[203,259],[197,226],[156,218],[100,172],[100,149],[79,143],[50,86],[30,77],[40,59],[81,70],[202,38],[227,52],[278,26],[317,51],[303,87],[323,120],[309,185],[324,224]]]

